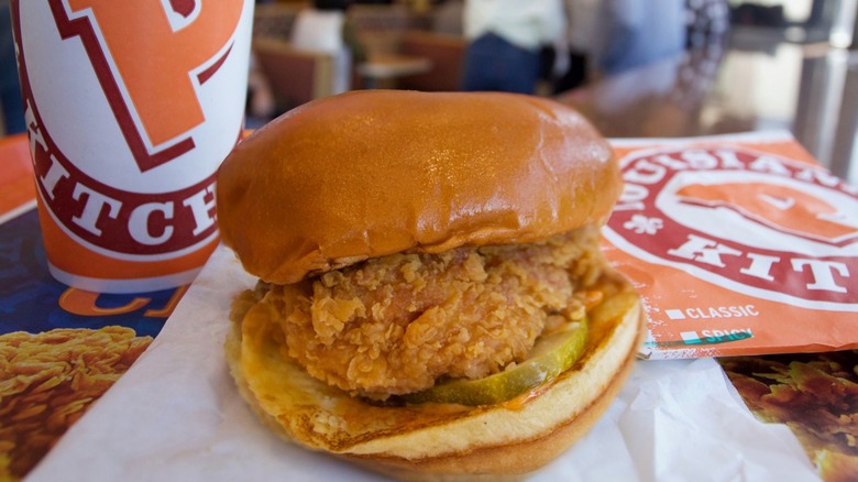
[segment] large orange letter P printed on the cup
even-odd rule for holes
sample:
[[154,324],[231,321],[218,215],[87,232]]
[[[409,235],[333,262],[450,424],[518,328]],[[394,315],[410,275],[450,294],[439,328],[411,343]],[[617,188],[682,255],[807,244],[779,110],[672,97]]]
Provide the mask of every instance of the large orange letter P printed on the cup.
[[197,18],[178,31],[173,30],[160,1],[69,0],[68,4],[73,12],[91,9],[107,44],[103,47],[153,145],[202,123],[190,73],[227,45],[239,24],[243,1],[223,0],[200,8]]

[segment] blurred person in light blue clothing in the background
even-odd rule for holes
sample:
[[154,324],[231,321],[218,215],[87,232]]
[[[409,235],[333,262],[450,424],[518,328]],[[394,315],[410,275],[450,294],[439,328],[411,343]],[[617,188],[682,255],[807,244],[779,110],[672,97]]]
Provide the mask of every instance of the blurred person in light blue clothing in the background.
[[600,3],[592,54],[601,75],[620,74],[685,50],[685,0]]

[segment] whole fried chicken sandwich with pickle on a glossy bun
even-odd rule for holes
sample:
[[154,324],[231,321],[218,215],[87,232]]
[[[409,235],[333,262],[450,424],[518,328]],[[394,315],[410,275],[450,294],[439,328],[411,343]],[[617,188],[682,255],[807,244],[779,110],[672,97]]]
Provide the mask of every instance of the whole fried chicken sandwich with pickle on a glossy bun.
[[218,175],[238,388],[287,440],[408,479],[519,476],[608,407],[642,332],[600,228],[622,189],[574,110],[356,91],[295,109]]

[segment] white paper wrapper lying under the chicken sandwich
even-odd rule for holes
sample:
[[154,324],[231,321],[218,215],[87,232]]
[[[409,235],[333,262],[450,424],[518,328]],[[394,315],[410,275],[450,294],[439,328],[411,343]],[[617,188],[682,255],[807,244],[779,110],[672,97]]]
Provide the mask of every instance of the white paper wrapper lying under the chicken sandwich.
[[[29,481],[380,476],[272,435],[223,358],[231,298],[255,281],[219,248],[132,369]],[[639,362],[605,417],[536,481],[817,480],[792,432],[758,421],[712,359]]]

